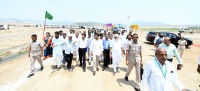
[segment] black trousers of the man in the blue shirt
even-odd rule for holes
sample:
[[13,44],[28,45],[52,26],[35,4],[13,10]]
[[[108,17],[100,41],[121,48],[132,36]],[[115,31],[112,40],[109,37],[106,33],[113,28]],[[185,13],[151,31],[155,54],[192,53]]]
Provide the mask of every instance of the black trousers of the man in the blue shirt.
[[104,49],[103,54],[104,54],[104,65],[103,65],[103,67],[106,68],[106,67],[108,67],[108,64],[110,63],[110,50]]

